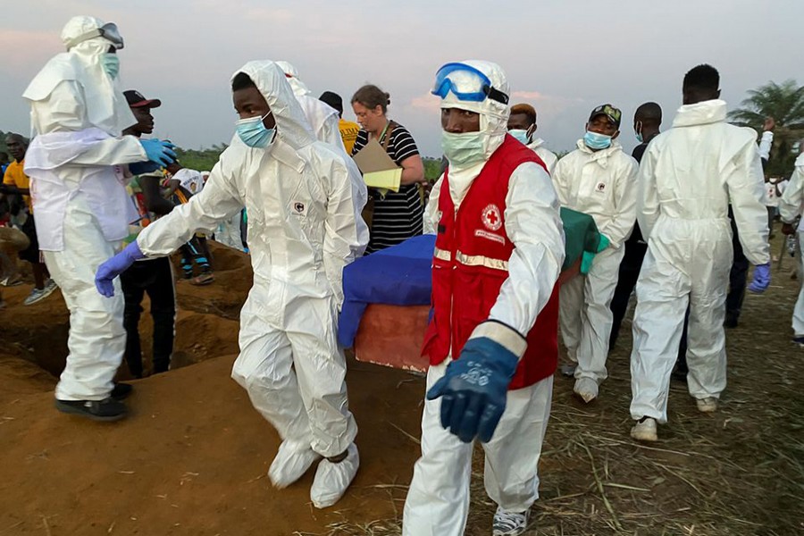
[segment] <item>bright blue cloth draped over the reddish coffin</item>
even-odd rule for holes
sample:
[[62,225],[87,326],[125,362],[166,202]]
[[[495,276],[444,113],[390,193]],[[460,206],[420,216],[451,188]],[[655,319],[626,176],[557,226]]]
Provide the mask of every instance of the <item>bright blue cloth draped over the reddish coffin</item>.
[[368,304],[429,306],[435,235],[407,239],[349,264],[343,270],[338,342],[351,348]]

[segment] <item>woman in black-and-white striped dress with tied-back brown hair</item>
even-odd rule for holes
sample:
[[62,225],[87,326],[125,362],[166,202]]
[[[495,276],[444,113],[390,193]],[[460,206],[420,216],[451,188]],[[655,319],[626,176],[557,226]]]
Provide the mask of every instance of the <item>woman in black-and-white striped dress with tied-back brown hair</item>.
[[352,109],[361,126],[352,155],[374,138],[402,168],[398,192],[389,191],[385,197],[376,190],[371,192],[374,214],[366,254],[422,234],[423,204],[418,188],[424,180],[422,157],[410,132],[396,121],[388,120],[389,104],[389,94],[372,85],[358,89],[352,97]]

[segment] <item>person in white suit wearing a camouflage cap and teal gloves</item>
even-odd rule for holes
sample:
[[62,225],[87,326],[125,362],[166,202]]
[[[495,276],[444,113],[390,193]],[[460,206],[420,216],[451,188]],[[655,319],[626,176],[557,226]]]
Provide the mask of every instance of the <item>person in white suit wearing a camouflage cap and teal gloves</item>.
[[[561,335],[574,367],[574,393],[589,403],[606,380],[608,341],[624,242],[636,222],[636,161],[616,141],[622,113],[612,105],[592,110],[578,148],[558,161],[553,181],[561,205],[589,214],[608,247],[589,273],[561,287]],[[570,369],[572,370],[572,365]]]

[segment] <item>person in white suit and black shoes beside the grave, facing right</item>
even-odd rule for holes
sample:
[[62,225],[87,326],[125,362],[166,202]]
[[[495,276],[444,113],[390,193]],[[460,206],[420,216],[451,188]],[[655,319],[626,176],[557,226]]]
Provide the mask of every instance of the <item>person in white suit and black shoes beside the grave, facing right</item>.
[[55,389],[56,407],[95,420],[126,415],[119,400],[130,385],[113,384],[126,343],[123,297],[98,296],[95,271],[114,254],[136,218],[115,164],[172,162],[171,144],[121,136],[137,123],[118,88],[113,23],[73,17],[56,54],[23,96],[34,138],[25,159],[37,213],[39,248],[70,309],[70,354]]

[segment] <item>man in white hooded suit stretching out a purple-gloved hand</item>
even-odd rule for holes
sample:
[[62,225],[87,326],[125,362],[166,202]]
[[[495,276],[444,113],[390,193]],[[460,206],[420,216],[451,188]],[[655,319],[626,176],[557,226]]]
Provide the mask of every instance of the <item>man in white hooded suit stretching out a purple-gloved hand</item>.
[[204,189],[102,265],[97,286],[110,294],[134,259],[170,255],[245,205],[254,287],[240,312],[231,375],[282,439],[268,471],[273,484],[289,486],[322,460],[310,498],[329,507],[359,465],[336,322],[341,272],[366,246],[356,224],[363,205],[352,195],[345,156],[315,140],[276,63],[246,63],[231,88],[237,135]]

